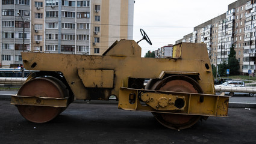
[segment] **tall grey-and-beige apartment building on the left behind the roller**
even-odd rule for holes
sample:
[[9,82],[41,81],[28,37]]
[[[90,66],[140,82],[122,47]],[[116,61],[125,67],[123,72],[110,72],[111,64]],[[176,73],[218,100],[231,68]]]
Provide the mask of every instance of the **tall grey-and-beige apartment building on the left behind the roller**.
[[21,65],[23,50],[102,55],[114,41],[133,39],[134,0],[1,0],[0,5],[3,68]]

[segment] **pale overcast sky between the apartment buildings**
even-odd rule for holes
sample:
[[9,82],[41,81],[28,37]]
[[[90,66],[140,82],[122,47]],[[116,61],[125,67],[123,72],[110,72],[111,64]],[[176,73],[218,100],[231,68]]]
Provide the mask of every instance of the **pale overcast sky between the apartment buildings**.
[[142,56],[148,50],[157,50],[167,44],[175,44],[184,35],[193,32],[195,26],[207,22],[228,11],[228,5],[236,0],[135,0],[134,35],[139,41],[144,29],[152,42],[139,43]]

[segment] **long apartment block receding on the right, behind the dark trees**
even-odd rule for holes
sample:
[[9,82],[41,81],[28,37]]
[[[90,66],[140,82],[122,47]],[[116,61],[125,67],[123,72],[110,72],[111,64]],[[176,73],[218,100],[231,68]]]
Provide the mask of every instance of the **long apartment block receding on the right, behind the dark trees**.
[[[228,61],[230,48],[234,46],[240,73],[255,73],[256,45],[255,1],[239,0],[228,5],[228,11],[194,28],[192,43],[207,44],[211,64]],[[255,20],[255,21],[254,21]],[[190,42],[187,35],[177,43]]]

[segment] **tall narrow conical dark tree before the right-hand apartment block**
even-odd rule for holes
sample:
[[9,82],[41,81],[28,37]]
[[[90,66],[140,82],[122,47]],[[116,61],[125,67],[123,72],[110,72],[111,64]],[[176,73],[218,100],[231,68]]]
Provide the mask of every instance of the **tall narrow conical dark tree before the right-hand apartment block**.
[[239,74],[239,61],[236,59],[236,52],[234,46],[230,48],[230,54],[228,55],[228,68],[230,70],[229,75]]

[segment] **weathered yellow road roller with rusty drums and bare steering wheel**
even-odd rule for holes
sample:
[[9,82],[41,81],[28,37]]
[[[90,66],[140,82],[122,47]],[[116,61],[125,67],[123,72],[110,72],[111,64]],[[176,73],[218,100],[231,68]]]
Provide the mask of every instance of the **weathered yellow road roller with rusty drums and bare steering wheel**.
[[159,59],[141,58],[138,43],[116,41],[102,56],[22,52],[23,66],[36,72],[11,96],[11,104],[36,123],[51,121],[73,100],[109,100],[111,95],[119,109],[151,112],[175,130],[228,115],[229,97],[214,95],[205,44],[176,44],[171,58]]

